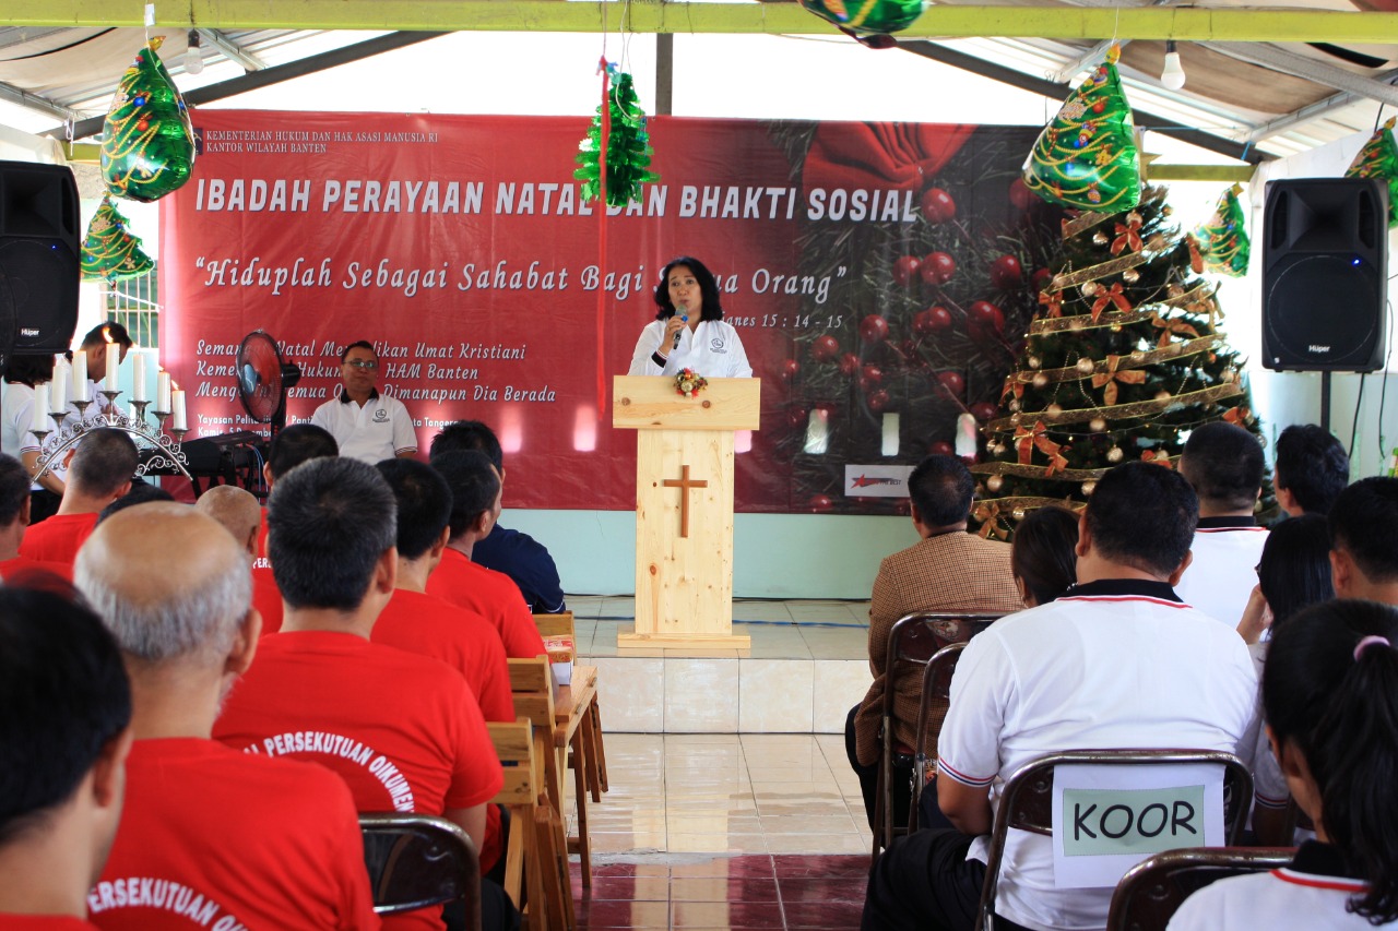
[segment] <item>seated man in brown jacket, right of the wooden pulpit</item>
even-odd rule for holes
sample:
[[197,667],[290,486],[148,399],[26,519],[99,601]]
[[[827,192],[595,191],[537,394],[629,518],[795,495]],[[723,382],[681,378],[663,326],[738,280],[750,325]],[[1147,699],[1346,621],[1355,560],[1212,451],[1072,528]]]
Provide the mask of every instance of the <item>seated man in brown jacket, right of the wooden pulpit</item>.
[[[844,749],[860,777],[871,826],[878,791],[889,629],[913,611],[1009,614],[1023,607],[1009,572],[1009,545],[966,533],[976,481],[959,459],[928,456],[909,475],[907,492],[913,527],[921,540],[886,556],[879,565],[870,602],[870,670],[874,684],[844,721]],[[916,742],[921,671],[903,672],[893,688],[895,753],[909,753]],[[934,709],[934,724],[939,724],[945,713],[945,706]],[[935,748],[930,751],[935,753]],[[895,823],[906,822],[911,795],[907,766],[895,766],[892,779],[893,819]]]

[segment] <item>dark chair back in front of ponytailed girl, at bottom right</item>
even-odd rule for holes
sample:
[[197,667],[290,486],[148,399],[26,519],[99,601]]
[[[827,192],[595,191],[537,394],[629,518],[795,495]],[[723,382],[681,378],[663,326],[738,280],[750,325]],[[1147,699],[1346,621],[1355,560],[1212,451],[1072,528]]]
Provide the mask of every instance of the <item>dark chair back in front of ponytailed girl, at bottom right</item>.
[[1186,899],[1218,879],[1290,864],[1295,847],[1187,847],[1142,860],[1111,895],[1107,931],[1165,931]]

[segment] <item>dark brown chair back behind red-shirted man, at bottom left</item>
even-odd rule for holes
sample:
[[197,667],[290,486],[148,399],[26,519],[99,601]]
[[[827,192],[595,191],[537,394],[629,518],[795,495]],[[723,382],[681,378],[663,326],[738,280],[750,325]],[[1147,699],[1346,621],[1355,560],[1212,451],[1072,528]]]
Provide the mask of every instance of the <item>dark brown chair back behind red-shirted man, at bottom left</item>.
[[461,900],[481,931],[481,864],[470,835],[432,815],[359,815],[373,910],[398,914]]

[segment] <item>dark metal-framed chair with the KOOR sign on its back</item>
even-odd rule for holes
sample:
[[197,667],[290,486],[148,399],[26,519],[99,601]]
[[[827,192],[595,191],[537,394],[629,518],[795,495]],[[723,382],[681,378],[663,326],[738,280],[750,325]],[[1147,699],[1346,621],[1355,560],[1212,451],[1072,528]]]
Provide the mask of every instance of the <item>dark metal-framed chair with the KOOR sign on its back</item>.
[[1095,766],[1159,766],[1167,763],[1211,763],[1223,767],[1226,840],[1236,844],[1247,823],[1253,804],[1253,773],[1233,753],[1199,749],[1116,749],[1064,751],[1025,763],[1005,783],[995,808],[995,826],[986,857],[986,885],[980,892],[976,931],[993,928],[995,888],[1000,861],[1005,856],[1009,829],[1053,836],[1053,773],[1055,766],[1079,763]]

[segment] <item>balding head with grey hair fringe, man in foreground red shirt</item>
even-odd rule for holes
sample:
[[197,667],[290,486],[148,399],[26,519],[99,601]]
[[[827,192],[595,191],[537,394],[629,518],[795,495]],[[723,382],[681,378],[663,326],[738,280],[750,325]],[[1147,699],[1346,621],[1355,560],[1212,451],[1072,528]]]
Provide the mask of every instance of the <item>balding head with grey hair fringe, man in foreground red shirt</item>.
[[221,664],[252,605],[247,554],[187,505],[113,514],[82,544],[73,580],[122,650],[152,664]]

